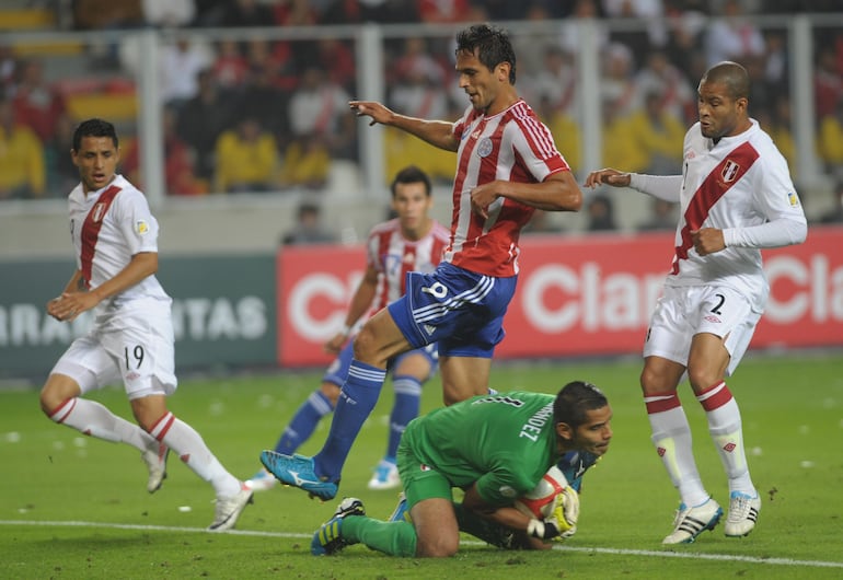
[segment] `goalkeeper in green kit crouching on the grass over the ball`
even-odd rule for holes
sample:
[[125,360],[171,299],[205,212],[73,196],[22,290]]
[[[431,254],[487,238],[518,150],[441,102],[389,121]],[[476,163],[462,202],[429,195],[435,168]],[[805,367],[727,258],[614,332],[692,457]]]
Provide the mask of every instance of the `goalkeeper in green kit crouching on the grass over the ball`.
[[[411,421],[401,438],[397,466],[406,499],[396,513],[374,520],[359,499],[346,498],[313,535],[311,552],[331,555],[359,543],[393,556],[448,557],[459,548],[461,530],[501,547],[548,547],[576,530],[578,482],[562,482],[556,508],[543,519],[513,502],[554,465],[578,478],[581,473],[563,464],[602,456],[611,419],[605,395],[582,381],[556,396],[498,393],[436,409]],[[453,502],[454,487],[464,491],[462,503]]]

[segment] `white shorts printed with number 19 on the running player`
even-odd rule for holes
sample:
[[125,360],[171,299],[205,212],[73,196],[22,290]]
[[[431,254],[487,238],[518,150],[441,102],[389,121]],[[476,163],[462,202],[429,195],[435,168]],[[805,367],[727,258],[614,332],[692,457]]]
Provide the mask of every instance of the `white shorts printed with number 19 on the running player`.
[[50,374],[73,379],[82,394],[120,379],[129,401],[171,395],[177,385],[169,305],[120,312],[73,340]]

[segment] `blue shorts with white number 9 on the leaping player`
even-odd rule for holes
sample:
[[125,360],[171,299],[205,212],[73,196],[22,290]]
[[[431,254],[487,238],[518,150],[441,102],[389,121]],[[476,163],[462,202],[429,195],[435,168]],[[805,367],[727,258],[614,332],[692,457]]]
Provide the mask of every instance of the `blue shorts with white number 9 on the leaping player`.
[[432,274],[407,272],[406,293],[388,308],[413,348],[438,343],[442,356],[492,358],[517,281],[440,263]]

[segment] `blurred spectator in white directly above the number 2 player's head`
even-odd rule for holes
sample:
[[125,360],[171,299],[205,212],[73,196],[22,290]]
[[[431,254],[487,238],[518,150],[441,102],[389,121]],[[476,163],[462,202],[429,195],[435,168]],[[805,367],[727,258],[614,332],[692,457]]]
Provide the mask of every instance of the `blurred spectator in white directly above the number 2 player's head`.
[[705,53],[708,66],[724,60],[742,62],[747,57],[763,57],[766,50],[761,30],[743,15],[739,0],[725,0],[720,18],[708,26]]

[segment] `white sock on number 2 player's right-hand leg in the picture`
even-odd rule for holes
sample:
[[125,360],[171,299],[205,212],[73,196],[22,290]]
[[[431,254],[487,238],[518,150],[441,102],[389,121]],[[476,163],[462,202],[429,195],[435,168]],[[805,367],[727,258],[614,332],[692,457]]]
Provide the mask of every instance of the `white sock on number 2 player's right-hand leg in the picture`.
[[696,398],[705,409],[708,432],[729,478],[729,491],[758,495],[749,475],[740,409],[729,387],[725,382],[719,382],[706,388]]

